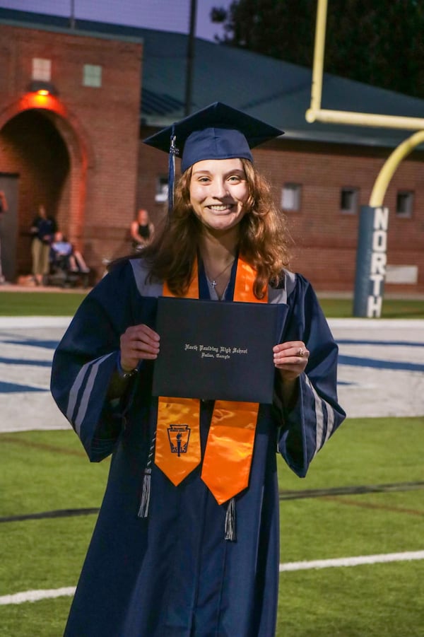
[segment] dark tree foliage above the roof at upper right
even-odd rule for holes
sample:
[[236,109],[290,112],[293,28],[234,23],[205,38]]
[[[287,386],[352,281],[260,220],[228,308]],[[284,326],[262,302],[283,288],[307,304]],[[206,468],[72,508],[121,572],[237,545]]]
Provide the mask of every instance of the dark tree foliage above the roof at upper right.
[[[317,0],[217,6],[225,45],[312,67]],[[424,98],[424,0],[329,0],[324,70]]]

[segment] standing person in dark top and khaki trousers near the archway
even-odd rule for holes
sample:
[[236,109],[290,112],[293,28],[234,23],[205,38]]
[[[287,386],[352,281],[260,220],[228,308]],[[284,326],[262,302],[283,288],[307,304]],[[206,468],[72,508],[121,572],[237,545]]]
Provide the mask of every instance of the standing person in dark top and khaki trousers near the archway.
[[38,213],[33,219],[30,233],[33,235],[31,255],[33,257],[33,277],[35,285],[41,286],[49,273],[50,244],[53,241],[57,224],[53,217],[47,216],[45,206],[38,206]]

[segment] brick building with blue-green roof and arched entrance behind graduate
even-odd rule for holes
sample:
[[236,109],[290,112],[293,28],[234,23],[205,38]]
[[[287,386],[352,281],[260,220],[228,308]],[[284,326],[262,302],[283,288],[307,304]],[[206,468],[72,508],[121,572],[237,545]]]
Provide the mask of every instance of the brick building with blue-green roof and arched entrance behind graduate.
[[[28,227],[43,200],[100,276],[102,259],[129,252],[137,207],[156,223],[164,214],[167,157],[142,140],[184,116],[187,36],[86,21],[71,30],[65,18],[0,9],[0,37],[13,275],[30,271]],[[409,133],[307,124],[310,69],[251,52],[196,40],[193,74],[192,110],[220,100],[285,130],[254,158],[289,218],[291,267],[318,290],[352,291],[360,206]],[[323,107],[422,117],[424,102],[326,76]],[[386,289],[424,291],[423,148],[396,170],[384,205]]]

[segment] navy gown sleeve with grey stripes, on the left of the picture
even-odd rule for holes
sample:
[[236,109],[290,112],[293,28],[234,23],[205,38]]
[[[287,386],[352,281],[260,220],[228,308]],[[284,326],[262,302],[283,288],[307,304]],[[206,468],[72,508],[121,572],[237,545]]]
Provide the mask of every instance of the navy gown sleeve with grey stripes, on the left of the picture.
[[135,325],[133,288],[129,267],[107,274],[83,300],[54,353],[53,398],[92,462],[112,453],[125,424],[128,396],[111,401],[107,390],[120,336]]

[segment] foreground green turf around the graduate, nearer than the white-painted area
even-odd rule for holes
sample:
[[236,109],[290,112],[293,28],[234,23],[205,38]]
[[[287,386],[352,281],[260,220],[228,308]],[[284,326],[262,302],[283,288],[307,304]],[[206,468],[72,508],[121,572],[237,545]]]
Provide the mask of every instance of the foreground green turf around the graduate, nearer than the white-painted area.
[[[422,551],[423,428],[424,417],[350,419],[305,480],[281,460],[282,498],[329,490],[281,500],[281,563]],[[72,431],[31,431],[0,435],[0,466],[5,518],[98,508],[109,460],[90,464]],[[358,486],[369,492],[355,493]],[[342,487],[353,492],[331,492]],[[95,518],[0,522],[0,596],[76,585]],[[277,635],[422,637],[422,582],[423,561],[283,572]],[[70,603],[0,605],[0,635],[61,637]]]

